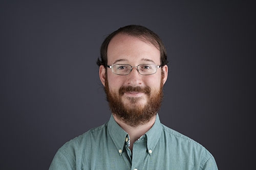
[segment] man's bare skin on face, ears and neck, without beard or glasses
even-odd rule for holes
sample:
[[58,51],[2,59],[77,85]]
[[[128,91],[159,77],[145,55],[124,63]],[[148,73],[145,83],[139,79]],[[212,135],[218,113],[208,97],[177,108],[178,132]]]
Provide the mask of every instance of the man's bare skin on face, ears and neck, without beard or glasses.
[[[156,64],[160,65],[160,51],[151,43],[142,41],[134,36],[126,34],[117,34],[110,41],[108,46],[108,65],[112,64],[130,64],[137,66],[139,64]],[[164,72],[163,78],[161,78],[161,69]],[[110,68],[104,68],[103,65],[99,67],[99,77],[101,83],[105,85],[105,71],[108,71],[108,83],[110,91],[118,93],[121,86],[149,86],[152,89],[152,93],[160,89],[160,82],[163,84],[167,80],[168,67],[164,65],[162,68],[158,68],[156,74],[143,76],[140,75],[136,68],[133,68],[131,73],[126,76],[120,76],[113,74]],[[139,100],[132,104],[127,98],[138,98]],[[121,97],[122,102],[127,107],[143,107],[147,101],[148,96],[143,92],[125,92]],[[144,135],[155,123],[155,118],[152,118],[148,123],[131,127],[123,123],[115,115],[113,115],[116,122],[121,128],[123,128],[130,136],[131,147],[133,143],[142,135]]]

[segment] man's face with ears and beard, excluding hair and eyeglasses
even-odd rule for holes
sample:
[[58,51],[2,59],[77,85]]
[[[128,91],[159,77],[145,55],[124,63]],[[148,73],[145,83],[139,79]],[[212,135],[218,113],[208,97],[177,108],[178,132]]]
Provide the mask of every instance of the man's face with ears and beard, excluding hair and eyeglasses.
[[[153,44],[125,34],[110,41],[107,56],[108,65],[160,65],[160,51]],[[167,66],[148,76],[140,75],[135,67],[129,75],[120,76],[100,66],[100,79],[113,114],[126,124],[138,126],[150,121],[160,108]]]

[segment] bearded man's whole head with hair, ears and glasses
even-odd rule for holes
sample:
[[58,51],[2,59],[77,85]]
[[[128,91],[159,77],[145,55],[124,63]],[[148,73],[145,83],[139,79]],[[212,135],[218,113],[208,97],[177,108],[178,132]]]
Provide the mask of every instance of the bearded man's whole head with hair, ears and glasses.
[[167,79],[166,58],[161,39],[142,26],[120,28],[104,40],[97,63],[115,117],[135,127],[157,114]]

